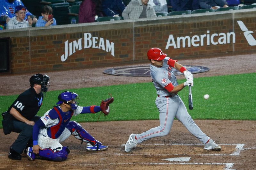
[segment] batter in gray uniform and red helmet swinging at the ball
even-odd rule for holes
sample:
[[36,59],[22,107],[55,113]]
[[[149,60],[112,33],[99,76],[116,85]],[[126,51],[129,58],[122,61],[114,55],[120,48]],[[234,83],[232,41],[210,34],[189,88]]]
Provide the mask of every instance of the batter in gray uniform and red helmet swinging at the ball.
[[[167,135],[172,128],[174,117],[204,144],[205,150],[220,151],[221,147],[199,129],[178,95],[178,92],[185,86],[193,86],[193,75],[176,60],[167,57],[159,48],[151,48],[147,55],[151,63],[150,75],[157,93],[156,107],[159,111],[160,126],[141,134],[131,134],[125,144],[125,152],[130,152],[137,144],[152,137]],[[179,85],[172,68],[180,70],[187,81]]]

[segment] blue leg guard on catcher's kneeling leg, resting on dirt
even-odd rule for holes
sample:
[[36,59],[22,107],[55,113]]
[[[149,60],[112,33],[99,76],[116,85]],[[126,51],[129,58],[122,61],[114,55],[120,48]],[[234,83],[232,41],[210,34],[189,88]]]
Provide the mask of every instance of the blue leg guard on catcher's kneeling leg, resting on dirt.
[[68,147],[62,147],[60,151],[54,151],[51,148],[39,150],[38,155],[44,159],[60,162],[68,158],[68,153],[69,153]]

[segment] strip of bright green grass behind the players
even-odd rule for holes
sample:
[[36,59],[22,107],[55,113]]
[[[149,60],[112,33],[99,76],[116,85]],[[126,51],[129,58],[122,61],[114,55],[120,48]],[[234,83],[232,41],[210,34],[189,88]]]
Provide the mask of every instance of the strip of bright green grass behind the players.
[[[179,83],[184,81],[179,80]],[[65,90],[79,94],[79,106],[100,105],[101,99],[108,98],[108,92],[112,93],[115,100],[110,105],[110,114],[105,118],[101,116],[99,121],[159,118],[155,105],[156,90],[152,82]],[[37,115],[42,116],[51,109],[63,91],[47,92]],[[209,94],[210,98],[204,100],[204,94]],[[188,108],[188,87],[179,95]],[[188,112],[193,119],[256,120],[256,73],[195,78],[192,95],[194,109]],[[17,97],[0,96],[0,110],[7,110]],[[95,122],[98,116],[99,113],[80,114],[72,119],[77,122]]]

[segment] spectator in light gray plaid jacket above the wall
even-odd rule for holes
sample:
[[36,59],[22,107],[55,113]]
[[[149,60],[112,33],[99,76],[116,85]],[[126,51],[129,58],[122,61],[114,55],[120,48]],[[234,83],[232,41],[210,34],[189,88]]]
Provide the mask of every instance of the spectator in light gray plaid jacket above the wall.
[[148,0],[132,0],[124,9],[124,19],[155,18],[156,12]]

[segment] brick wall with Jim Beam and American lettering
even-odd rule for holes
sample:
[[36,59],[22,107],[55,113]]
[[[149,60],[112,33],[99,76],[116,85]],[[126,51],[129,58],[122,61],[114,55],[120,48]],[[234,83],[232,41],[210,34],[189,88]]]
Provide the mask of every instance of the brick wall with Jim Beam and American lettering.
[[[237,23],[241,20],[256,39],[255,16],[255,10],[235,10],[115,23],[4,30],[0,37],[11,37],[11,73],[67,70],[146,60],[147,51],[152,47],[161,48],[174,59],[255,53],[256,45],[248,44]],[[235,43],[232,34],[228,43],[228,33],[235,34]],[[186,41],[182,37],[187,38]],[[69,47],[72,47],[72,54]]]

